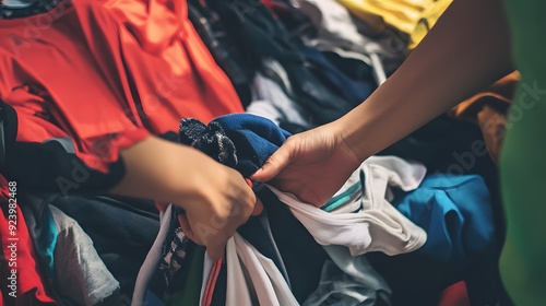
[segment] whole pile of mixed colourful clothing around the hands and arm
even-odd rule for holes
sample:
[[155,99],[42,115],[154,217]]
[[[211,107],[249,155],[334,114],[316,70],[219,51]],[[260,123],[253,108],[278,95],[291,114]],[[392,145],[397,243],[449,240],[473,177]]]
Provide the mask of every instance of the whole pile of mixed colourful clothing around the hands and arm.
[[216,261],[180,209],[107,192],[150,134],[250,177],[365,101],[451,0],[15,2],[0,5],[0,305],[511,305],[496,162],[518,72],[321,208],[254,184],[264,210]]

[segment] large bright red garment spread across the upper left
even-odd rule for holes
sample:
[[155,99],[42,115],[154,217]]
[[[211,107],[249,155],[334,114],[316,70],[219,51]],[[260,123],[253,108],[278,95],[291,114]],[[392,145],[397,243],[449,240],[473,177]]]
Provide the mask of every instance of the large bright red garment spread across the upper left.
[[186,1],[66,1],[0,28],[0,98],[17,113],[17,141],[70,137],[90,167],[106,172],[183,117],[242,111]]

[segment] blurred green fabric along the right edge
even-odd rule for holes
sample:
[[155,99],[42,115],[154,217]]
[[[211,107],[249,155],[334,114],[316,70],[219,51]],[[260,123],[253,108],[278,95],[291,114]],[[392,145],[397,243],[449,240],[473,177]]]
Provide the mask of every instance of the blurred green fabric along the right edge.
[[506,0],[506,10],[522,81],[500,156],[508,224],[500,268],[515,305],[546,305],[546,1]]

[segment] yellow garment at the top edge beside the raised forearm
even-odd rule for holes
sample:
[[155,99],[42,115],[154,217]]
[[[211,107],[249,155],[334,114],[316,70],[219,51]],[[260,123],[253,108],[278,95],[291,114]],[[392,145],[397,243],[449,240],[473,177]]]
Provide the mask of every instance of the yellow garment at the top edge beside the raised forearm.
[[422,12],[435,0],[337,0],[354,15],[368,23],[378,33],[387,26],[412,34]]

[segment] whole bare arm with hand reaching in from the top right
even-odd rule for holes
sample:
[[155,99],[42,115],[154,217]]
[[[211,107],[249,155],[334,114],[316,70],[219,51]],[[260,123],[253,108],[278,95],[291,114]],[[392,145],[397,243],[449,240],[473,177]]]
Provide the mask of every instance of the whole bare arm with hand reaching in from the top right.
[[252,177],[324,203],[358,165],[512,70],[501,0],[454,0],[368,99],[339,120],[290,137]]

